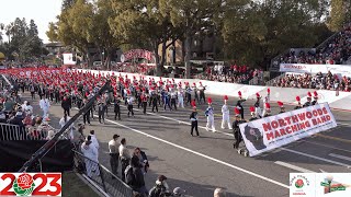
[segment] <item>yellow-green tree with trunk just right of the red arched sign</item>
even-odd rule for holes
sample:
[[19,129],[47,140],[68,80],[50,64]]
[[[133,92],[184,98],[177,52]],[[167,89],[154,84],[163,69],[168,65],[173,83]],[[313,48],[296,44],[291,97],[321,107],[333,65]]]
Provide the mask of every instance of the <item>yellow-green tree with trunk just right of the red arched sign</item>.
[[[181,34],[170,21],[170,13],[160,11],[158,0],[113,1],[117,13],[110,20],[115,36],[123,37],[126,43],[150,48],[156,56],[157,76],[161,76],[166,62],[166,50]],[[167,43],[171,40],[170,43]],[[161,45],[161,60],[158,48]]]

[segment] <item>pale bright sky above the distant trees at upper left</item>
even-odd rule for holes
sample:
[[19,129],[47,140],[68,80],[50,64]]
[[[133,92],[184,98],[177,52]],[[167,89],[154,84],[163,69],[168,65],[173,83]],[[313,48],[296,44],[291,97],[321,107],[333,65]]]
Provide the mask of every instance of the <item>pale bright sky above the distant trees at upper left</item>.
[[[37,25],[39,37],[48,43],[45,32],[49,22],[56,22],[59,15],[63,0],[0,0],[0,23],[8,25],[15,18],[31,19]],[[5,38],[7,39],[7,38]]]

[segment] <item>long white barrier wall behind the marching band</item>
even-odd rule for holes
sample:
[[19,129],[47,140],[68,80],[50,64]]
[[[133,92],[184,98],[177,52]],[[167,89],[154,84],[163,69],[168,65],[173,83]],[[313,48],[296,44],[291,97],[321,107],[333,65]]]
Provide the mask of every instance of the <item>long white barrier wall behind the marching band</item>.
[[[159,77],[155,76],[143,76],[139,73],[126,73],[126,72],[116,72],[116,71],[99,71],[99,70],[87,70],[87,69],[77,69],[78,71],[82,72],[91,72],[93,74],[101,74],[101,76],[116,76],[120,74],[122,77],[128,77],[128,79],[139,79],[144,77],[145,80],[155,79],[155,81],[159,81]],[[171,78],[162,78],[162,80],[172,80]],[[261,86],[261,85],[245,85],[238,83],[227,83],[227,82],[217,82],[217,81],[207,81],[207,80],[199,80],[199,79],[177,79],[174,78],[174,82],[189,82],[191,85],[199,82],[202,82],[203,85],[206,86],[206,93],[213,95],[228,95],[228,96],[236,96],[238,97],[238,92],[242,93],[242,97],[248,100],[256,100],[256,93],[260,93],[262,96],[267,95],[267,90],[271,90],[271,102],[281,101],[286,104],[296,104],[295,97],[299,96],[302,102],[307,100],[307,92],[317,91],[320,103],[328,102],[329,106],[332,109],[342,109],[342,111],[351,111],[351,103],[344,102],[351,100],[350,92],[340,92],[337,95],[336,91],[329,90],[313,90],[313,89],[294,89],[294,88],[276,88],[276,86]]]

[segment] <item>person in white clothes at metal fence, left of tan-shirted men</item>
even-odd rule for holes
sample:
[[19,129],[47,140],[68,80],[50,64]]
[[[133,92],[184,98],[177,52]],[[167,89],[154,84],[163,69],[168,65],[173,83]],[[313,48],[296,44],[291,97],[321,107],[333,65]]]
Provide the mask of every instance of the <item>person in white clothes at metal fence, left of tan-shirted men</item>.
[[97,175],[99,172],[99,161],[98,161],[98,149],[91,142],[91,136],[87,137],[87,140],[81,144],[81,152],[86,157],[84,163],[87,169],[87,175],[92,176],[92,172],[95,172]]

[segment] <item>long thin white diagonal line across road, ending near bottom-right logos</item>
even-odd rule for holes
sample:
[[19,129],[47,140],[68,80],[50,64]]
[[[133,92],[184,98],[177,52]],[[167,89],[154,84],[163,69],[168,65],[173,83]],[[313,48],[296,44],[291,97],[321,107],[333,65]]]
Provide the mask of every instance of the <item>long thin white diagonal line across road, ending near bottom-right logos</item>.
[[[97,116],[97,115],[94,115],[94,116]],[[98,117],[98,116],[97,116],[97,117]],[[188,149],[188,148],[185,148],[185,147],[182,147],[182,146],[179,146],[179,144],[172,143],[172,142],[167,141],[167,140],[163,140],[163,139],[161,139],[161,138],[158,138],[158,137],[151,136],[151,135],[146,134],[146,132],[143,132],[143,131],[140,131],[140,130],[137,130],[137,129],[131,128],[131,127],[125,126],[125,125],[122,125],[122,124],[120,124],[120,123],[117,123],[117,121],[113,121],[113,120],[110,120],[110,119],[105,119],[105,121],[109,121],[109,123],[112,123],[112,124],[118,125],[120,127],[123,127],[123,128],[129,129],[129,130],[132,130],[132,131],[134,131],[134,132],[137,132],[137,134],[139,134],[139,135],[143,135],[143,136],[146,136],[146,137],[152,138],[152,139],[155,139],[155,140],[161,141],[161,142],[163,142],[163,143],[167,143],[167,144],[169,144],[169,146],[172,146],[172,147],[176,147],[176,148],[182,149],[182,150],[184,150],[184,151],[186,151],[186,152],[193,153],[193,154],[195,154],[195,155],[200,155],[200,157],[202,157],[202,158],[205,158],[205,159],[207,159],[207,160],[211,160],[211,161],[217,162],[217,163],[219,163],[219,164],[226,165],[226,166],[231,167],[231,169],[235,169],[235,170],[237,170],[237,171],[244,172],[244,173],[249,174],[249,175],[251,175],[251,176],[254,176],[254,177],[258,177],[258,178],[261,178],[261,179],[268,181],[268,182],[270,182],[270,183],[272,183],[272,184],[275,184],[275,185],[279,185],[279,186],[281,186],[281,187],[290,188],[290,187],[288,187],[288,185],[285,185],[285,184],[283,184],[283,183],[276,182],[276,181],[274,181],[274,179],[271,179],[271,178],[269,178],[269,177],[265,177],[265,176],[259,175],[259,174],[257,174],[257,173],[254,173],[254,172],[251,172],[251,171],[248,171],[248,170],[241,169],[241,167],[236,166],[236,165],[233,165],[233,164],[230,164],[230,163],[226,163],[226,162],[224,162],[224,161],[220,161],[220,160],[218,160],[218,159],[215,159],[215,158],[208,157],[208,155],[206,155],[206,154],[203,154],[203,153],[200,153],[200,152],[193,151],[193,150]]]

